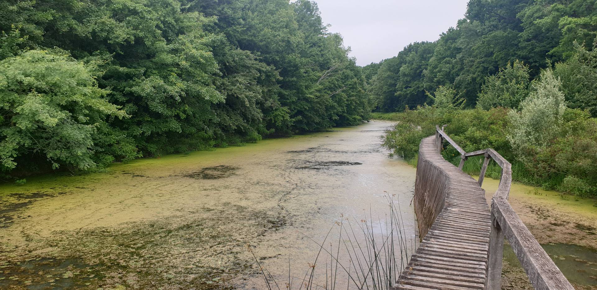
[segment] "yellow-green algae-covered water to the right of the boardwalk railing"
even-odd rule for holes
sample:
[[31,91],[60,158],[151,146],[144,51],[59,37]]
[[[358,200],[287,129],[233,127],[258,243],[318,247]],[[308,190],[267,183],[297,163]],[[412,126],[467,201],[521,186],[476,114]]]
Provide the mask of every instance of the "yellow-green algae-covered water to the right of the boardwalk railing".
[[[498,183],[487,177],[483,181],[488,202]],[[597,289],[595,200],[513,183],[509,202],[576,289]],[[502,289],[533,289],[509,246],[504,248],[502,279]]]

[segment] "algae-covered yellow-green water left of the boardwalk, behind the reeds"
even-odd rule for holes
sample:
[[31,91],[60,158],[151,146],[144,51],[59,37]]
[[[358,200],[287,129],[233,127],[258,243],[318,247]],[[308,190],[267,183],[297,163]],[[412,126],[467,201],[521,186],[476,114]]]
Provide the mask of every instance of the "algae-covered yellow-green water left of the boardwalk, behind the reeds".
[[5,184],[0,288],[263,289],[247,245],[274,276],[288,276],[289,257],[301,276],[319,250],[309,237],[321,242],[341,214],[383,224],[384,195],[402,205],[412,243],[415,169],[381,149],[389,126]]

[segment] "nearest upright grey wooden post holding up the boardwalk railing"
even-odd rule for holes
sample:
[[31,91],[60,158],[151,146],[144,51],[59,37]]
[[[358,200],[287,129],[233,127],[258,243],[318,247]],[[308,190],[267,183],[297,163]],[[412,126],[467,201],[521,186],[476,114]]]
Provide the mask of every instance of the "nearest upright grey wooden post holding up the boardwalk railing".
[[[492,205],[493,206],[493,205]],[[504,255],[504,232],[491,212],[491,233],[489,236],[489,251],[487,257],[487,279],[485,289],[500,290],[501,261]]]

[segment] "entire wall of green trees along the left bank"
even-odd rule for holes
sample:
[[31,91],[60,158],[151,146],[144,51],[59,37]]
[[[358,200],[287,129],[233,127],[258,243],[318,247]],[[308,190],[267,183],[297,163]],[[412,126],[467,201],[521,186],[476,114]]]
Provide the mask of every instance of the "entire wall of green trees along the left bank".
[[0,1],[0,168],[113,161],[367,120],[314,2]]

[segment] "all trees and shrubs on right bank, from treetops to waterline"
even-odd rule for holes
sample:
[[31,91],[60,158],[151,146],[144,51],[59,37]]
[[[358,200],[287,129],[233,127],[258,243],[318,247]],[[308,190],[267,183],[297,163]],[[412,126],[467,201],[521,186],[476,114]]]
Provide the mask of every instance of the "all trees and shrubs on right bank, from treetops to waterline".
[[364,67],[373,118],[399,121],[384,146],[416,163],[421,138],[447,124],[467,152],[500,152],[516,181],[597,197],[596,20],[595,1],[471,0],[438,41]]

